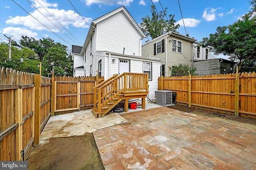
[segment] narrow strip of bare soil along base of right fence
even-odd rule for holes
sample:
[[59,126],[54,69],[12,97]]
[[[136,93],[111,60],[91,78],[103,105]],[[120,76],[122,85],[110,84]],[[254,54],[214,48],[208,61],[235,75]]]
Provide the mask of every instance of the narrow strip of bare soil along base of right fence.
[[209,111],[209,110],[204,110],[204,109],[198,109],[196,107],[190,108],[188,106],[183,106],[183,105],[169,106],[169,108],[177,109],[177,110],[188,112],[188,113],[193,113],[196,115],[212,117],[212,118],[219,119],[222,121],[235,123],[237,125],[241,125],[241,126],[244,126],[247,128],[256,129],[256,119],[250,118],[250,117],[236,117],[231,114],[225,114],[225,113],[219,113],[219,112],[214,112],[214,111]]

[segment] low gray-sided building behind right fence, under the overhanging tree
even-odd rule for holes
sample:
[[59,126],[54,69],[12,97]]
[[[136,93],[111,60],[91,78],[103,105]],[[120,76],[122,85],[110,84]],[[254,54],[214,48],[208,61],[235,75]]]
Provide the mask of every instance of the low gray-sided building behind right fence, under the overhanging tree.
[[223,74],[227,69],[231,69],[234,62],[226,59],[209,59],[209,60],[194,60],[194,67],[197,68],[196,74]]

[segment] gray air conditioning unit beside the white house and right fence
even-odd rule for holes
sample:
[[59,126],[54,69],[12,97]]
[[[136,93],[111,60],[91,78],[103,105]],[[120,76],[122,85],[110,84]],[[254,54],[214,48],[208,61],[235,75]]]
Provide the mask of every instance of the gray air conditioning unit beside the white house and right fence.
[[155,91],[156,95],[156,104],[159,104],[160,106],[173,106],[172,103],[172,91],[168,90],[160,90]]

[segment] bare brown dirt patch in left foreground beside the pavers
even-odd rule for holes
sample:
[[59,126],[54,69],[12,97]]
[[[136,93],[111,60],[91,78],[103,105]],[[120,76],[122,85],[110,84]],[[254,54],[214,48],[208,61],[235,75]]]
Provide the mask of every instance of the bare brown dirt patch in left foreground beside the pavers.
[[50,139],[35,147],[28,160],[29,170],[104,170],[92,134]]

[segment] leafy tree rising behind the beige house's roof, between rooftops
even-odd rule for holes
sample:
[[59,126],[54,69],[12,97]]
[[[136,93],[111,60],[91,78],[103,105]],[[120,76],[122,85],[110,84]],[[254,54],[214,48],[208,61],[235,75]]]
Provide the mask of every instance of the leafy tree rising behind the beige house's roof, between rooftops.
[[[174,31],[180,27],[180,24],[175,25],[176,20],[174,20],[174,16],[170,14],[169,19],[167,20],[167,7],[164,11],[161,11],[160,14],[156,12],[156,7],[154,5],[151,6],[150,12],[152,13],[152,18],[146,16],[142,18],[142,23],[140,23],[140,28],[144,33],[154,39],[167,33],[168,31]],[[166,20],[165,20],[166,18]]]

